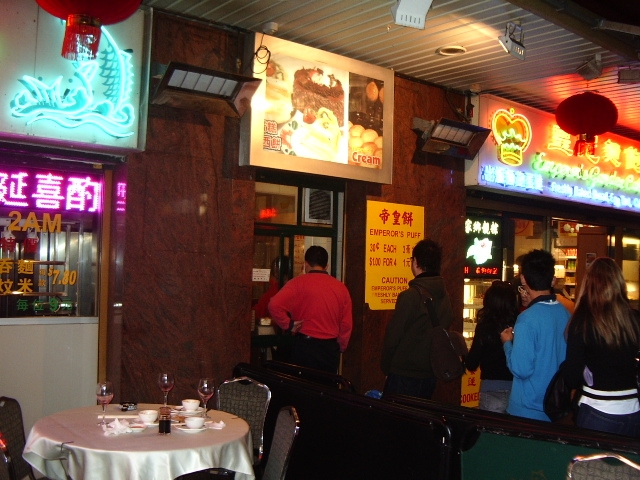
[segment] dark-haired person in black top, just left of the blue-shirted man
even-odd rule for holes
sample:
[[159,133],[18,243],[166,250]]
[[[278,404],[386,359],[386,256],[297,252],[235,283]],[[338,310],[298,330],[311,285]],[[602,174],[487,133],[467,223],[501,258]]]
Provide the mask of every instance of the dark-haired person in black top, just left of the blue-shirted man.
[[500,332],[513,327],[518,312],[518,296],[513,286],[499,280],[493,282],[484,294],[473,343],[465,358],[467,370],[480,367],[481,410],[506,412],[513,375],[507,367]]

